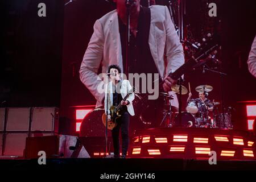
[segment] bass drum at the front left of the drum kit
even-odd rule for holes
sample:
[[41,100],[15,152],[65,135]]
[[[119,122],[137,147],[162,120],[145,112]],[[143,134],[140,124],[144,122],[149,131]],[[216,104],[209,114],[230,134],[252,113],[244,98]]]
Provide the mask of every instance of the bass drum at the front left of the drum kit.
[[[180,123],[180,115],[177,113],[174,119],[174,126],[179,126]],[[195,117],[189,112],[181,113],[181,126],[182,127],[196,127]]]

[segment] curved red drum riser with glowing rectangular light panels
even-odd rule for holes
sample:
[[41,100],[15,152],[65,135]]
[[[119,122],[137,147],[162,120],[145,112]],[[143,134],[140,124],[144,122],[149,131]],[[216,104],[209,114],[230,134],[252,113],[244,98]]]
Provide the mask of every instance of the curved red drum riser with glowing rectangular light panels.
[[173,127],[139,130],[134,136],[131,158],[256,160],[256,138],[246,131]]

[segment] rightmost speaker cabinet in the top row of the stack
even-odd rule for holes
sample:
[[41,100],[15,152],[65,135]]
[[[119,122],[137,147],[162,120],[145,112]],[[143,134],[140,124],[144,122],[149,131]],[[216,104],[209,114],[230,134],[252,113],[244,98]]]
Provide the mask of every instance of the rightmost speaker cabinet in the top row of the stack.
[[31,131],[59,130],[59,109],[56,107],[33,107]]

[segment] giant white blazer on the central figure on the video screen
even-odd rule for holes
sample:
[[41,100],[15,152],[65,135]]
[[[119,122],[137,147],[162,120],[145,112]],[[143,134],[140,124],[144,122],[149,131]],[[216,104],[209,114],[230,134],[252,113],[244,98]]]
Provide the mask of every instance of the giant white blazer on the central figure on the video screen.
[[[163,76],[184,64],[183,47],[168,8],[155,5],[150,6],[150,11],[148,44],[158,73]],[[104,93],[97,92],[97,86],[102,84],[101,78],[97,75],[98,69],[102,65],[102,72],[106,73],[109,65],[118,64],[123,72],[122,60],[118,15],[117,10],[114,10],[96,20],[79,71],[80,80],[97,100],[96,107],[102,106],[104,98]]]

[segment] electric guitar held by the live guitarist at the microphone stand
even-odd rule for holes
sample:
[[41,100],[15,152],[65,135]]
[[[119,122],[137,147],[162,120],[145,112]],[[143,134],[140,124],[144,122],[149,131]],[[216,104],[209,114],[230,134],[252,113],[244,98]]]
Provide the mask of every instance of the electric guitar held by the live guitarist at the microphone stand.
[[[126,99],[130,96],[130,94],[133,94],[135,92],[135,88],[133,87],[131,90],[129,90],[129,92],[126,94],[126,96],[123,98],[122,101],[126,101]],[[111,119],[110,121],[108,121],[108,129],[109,130],[113,130],[115,126],[117,126],[117,119],[119,117],[121,117],[122,115],[122,104],[121,102],[118,104],[118,106],[111,106],[110,107],[110,115],[111,115]],[[104,124],[104,126],[106,127],[106,118],[107,118],[107,115],[106,113],[104,112],[102,114],[102,122]]]

